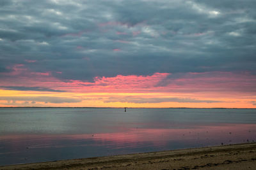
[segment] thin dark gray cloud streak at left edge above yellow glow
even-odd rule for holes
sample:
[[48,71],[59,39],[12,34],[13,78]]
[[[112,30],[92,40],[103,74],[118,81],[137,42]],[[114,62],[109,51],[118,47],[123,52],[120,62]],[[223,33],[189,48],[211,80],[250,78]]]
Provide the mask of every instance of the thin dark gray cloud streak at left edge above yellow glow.
[[0,86],[0,89],[22,90],[22,91],[41,91],[41,92],[65,92],[65,90],[54,90],[45,87],[20,87],[20,86]]

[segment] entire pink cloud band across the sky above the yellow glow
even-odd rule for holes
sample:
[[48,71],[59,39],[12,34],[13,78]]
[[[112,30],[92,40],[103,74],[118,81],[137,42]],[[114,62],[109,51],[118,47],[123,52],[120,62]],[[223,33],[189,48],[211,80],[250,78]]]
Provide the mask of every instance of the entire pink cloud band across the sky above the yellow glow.
[[[118,52],[118,48],[114,49]],[[84,57],[90,60],[88,57]],[[4,75],[0,86],[45,87],[73,92],[166,92],[193,94],[222,93],[256,95],[256,76],[250,73],[204,72],[204,73],[154,73],[150,76],[117,75],[114,77],[95,77],[93,82],[81,80],[61,81],[51,71],[29,71],[24,64],[16,64],[12,72]],[[62,74],[60,71],[55,72]],[[56,74],[55,74],[56,76]],[[19,78],[18,78],[19,77]]]

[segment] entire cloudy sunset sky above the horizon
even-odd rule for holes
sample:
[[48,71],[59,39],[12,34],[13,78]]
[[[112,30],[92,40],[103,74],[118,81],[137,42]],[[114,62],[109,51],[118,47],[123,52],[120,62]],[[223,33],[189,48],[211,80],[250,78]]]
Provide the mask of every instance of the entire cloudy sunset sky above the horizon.
[[255,0],[1,0],[0,106],[256,108]]

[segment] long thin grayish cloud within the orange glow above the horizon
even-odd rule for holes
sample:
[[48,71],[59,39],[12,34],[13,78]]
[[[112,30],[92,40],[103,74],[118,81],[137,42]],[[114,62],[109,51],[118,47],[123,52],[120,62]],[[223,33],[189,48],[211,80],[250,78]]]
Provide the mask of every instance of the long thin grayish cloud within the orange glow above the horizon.
[[164,98],[143,98],[143,97],[109,97],[104,101],[105,103],[122,102],[122,103],[163,103],[163,102],[177,102],[177,103],[222,103],[223,101],[198,100],[189,97],[164,97]]

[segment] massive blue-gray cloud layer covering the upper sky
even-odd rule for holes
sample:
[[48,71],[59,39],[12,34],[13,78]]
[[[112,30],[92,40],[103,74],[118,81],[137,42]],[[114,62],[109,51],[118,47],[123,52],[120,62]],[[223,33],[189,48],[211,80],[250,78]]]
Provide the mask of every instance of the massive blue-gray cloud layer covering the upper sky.
[[[256,3],[1,1],[0,73],[15,64],[63,80],[116,74],[256,74]],[[26,62],[36,60],[36,62]]]

